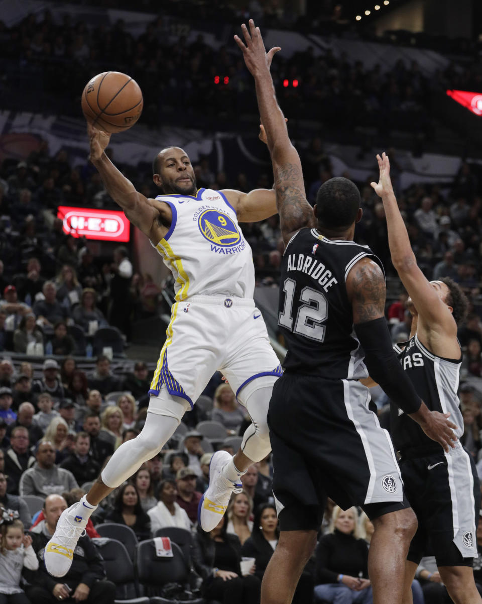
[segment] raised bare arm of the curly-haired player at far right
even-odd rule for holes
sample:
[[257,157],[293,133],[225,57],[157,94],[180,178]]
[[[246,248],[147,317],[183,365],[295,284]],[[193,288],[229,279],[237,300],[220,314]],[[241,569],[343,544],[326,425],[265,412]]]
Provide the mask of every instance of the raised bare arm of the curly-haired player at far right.
[[448,306],[443,303],[436,289],[420,271],[417,259],[411,249],[407,228],[398,208],[390,179],[390,160],[388,155],[377,155],[380,177],[378,183],[372,182],[375,193],[381,197],[387,218],[388,245],[392,263],[398,272],[405,289],[413,300],[419,316],[419,327],[430,326],[431,331],[437,328],[444,335],[456,335],[457,325]]

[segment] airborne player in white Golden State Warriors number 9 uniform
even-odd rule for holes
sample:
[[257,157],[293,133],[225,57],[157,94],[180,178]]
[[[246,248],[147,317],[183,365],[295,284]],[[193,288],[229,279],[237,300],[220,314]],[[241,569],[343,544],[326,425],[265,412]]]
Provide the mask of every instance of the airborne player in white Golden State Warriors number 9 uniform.
[[68,571],[75,544],[98,503],[162,449],[212,374],[222,370],[253,423],[234,459],[226,451],[212,458],[201,519],[206,530],[215,527],[231,493],[240,489],[241,475],[271,450],[266,416],[281,374],[253,301],[252,252],[238,226],[238,220],[263,220],[276,213],[274,191],[197,189],[186,153],[167,147],[153,164],[153,180],[163,194],[147,199],[104,152],[109,134],[92,126],[88,132],[90,160],[110,196],[173,272],[176,302],[141,434],[121,445],[87,495],[62,513],[45,548],[46,568],[56,577]]

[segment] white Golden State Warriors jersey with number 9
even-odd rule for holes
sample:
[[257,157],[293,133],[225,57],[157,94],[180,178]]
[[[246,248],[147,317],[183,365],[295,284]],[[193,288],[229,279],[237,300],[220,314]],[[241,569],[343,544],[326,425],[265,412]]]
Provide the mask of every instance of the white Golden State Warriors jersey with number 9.
[[176,300],[194,295],[252,298],[253,255],[223,193],[200,188],[196,196],[156,199],[169,204],[173,213],[168,233],[154,247],[176,279]]

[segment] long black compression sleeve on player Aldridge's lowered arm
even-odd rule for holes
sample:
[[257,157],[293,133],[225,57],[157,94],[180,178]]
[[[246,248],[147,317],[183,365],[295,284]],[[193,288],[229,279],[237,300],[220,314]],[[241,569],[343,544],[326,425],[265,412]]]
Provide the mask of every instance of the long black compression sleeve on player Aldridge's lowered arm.
[[418,411],[422,399],[393,350],[387,321],[380,317],[367,323],[358,323],[354,327],[365,352],[364,362],[370,377],[405,413]]

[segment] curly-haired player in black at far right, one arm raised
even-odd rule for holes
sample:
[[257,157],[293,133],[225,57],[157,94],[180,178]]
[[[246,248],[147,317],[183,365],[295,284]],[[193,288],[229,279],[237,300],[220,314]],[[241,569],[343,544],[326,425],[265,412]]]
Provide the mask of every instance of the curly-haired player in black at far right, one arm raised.
[[[388,243],[393,266],[410,298],[410,339],[396,347],[405,373],[431,410],[450,413],[463,432],[457,396],[462,355],[457,323],[467,300],[449,278],[428,281],[417,266],[407,229],[390,181],[390,161],[377,155],[378,184],[387,218]],[[480,486],[472,456],[459,441],[447,452],[428,439],[407,416],[392,406],[392,437],[401,455],[405,493],[419,526],[405,563],[404,604],[411,603],[410,585],[422,556],[434,555],[442,582],[454,602],[482,602],[474,582],[473,558],[477,557],[475,532],[480,508]]]

